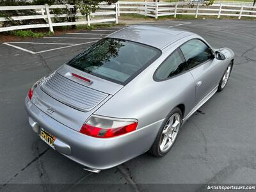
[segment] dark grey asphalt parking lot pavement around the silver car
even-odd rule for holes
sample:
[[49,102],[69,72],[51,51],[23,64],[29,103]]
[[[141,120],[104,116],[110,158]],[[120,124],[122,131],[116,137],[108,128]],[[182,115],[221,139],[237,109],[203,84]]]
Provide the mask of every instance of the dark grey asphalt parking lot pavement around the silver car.
[[256,21],[148,24],[193,31],[236,54],[225,90],[189,118],[172,150],[97,174],[49,148],[29,127],[24,99],[31,84],[127,26],[6,42],[0,44],[0,191],[207,191],[212,184],[256,184]]

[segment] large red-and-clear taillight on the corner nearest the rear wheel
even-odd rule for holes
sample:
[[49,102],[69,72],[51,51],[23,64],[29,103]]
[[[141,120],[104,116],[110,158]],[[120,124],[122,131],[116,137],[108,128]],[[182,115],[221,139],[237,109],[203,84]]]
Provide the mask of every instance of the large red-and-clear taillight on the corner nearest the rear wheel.
[[136,130],[138,120],[91,116],[80,132],[95,138],[113,138]]

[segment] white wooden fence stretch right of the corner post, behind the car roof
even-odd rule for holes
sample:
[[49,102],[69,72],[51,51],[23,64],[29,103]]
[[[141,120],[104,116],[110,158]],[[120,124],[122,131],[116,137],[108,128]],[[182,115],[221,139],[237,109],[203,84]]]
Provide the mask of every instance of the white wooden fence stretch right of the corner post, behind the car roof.
[[119,1],[118,15],[120,13],[137,13],[149,17],[161,17],[166,15],[215,15],[233,16],[237,19],[241,17],[256,17],[256,6],[236,5],[236,4],[212,4],[205,6],[204,4],[188,4],[188,3],[154,3],[142,1]]

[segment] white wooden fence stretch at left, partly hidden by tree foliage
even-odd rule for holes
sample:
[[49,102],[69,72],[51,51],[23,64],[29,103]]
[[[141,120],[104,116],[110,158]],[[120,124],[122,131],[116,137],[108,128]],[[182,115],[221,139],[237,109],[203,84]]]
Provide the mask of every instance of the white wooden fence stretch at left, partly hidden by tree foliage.
[[[50,31],[53,32],[53,27],[55,26],[71,26],[78,24],[87,24],[90,26],[92,23],[100,23],[100,22],[116,22],[118,23],[118,13],[117,13],[117,3],[116,4],[100,4],[99,10],[95,13],[91,13],[90,17],[82,15],[81,13],[76,13],[73,15],[68,14],[52,14],[51,10],[53,9],[72,9],[74,5],[31,5],[31,6],[0,6],[1,11],[7,10],[35,10],[37,15],[26,15],[26,16],[13,16],[8,19],[4,17],[0,17],[0,27],[1,22],[7,20],[33,20],[33,19],[44,19],[47,23],[42,24],[29,24],[29,25],[20,25],[20,26],[10,26],[0,28],[0,32],[3,31],[12,31],[16,29],[32,29],[32,28],[49,28]],[[100,18],[100,16],[102,18]],[[63,18],[63,17],[78,17],[76,22],[52,22],[53,18]],[[107,17],[107,18],[104,18]],[[110,17],[110,18],[109,18]]]

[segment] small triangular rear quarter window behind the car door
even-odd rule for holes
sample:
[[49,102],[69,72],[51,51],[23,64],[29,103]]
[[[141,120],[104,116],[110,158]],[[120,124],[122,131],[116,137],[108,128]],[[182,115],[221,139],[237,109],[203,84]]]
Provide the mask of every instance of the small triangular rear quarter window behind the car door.
[[158,80],[168,79],[186,70],[186,61],[181,56],[180,49],[176,49],[157,69],[155,77]]

